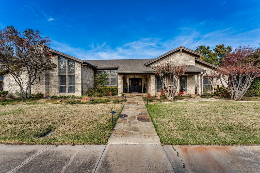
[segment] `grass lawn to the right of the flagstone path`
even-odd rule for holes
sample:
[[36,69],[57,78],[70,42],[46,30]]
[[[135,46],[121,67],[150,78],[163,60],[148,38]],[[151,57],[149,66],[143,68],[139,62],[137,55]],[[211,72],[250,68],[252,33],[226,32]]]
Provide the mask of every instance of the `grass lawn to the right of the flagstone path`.
[[259,102],[154,103],[147,110],[162,144],[260,144]]

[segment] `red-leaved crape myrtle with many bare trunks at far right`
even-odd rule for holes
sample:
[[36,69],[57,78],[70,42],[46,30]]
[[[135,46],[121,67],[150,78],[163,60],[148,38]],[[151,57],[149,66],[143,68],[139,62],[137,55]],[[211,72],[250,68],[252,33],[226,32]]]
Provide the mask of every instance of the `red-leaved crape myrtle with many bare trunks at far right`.
[[255,51],[251,46],[239,46],[222,59],[221,68],[216,70],[216,77],[233,100],[240,100],[252,81],[260,76],[260,64],[253,57]]

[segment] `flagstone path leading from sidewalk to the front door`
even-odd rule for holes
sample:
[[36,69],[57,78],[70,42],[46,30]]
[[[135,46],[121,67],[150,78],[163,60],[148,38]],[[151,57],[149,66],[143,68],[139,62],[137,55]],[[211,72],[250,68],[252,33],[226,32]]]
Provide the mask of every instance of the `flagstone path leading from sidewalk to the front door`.
[[161,144],[141,96],[128,97],[108,144]]

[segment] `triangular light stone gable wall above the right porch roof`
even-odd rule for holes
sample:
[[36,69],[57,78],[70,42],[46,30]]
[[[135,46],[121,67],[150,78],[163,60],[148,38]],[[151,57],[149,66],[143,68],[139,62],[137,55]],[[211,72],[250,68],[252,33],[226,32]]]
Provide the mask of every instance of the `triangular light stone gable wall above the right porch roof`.
[[157,65],[160,65],[161,62],[166,62],[166,61],[169,61],[171,62],[172,64],[179,64],[179,65],[194,65],[195,64],[195,57],[192,57],[184,52],[181,52],[181,53],[175,53],[175,54],[172,54],[171,56],[167,57],[167,58],[164,58],[154,64],[151,65],[152,66],[157,66]]

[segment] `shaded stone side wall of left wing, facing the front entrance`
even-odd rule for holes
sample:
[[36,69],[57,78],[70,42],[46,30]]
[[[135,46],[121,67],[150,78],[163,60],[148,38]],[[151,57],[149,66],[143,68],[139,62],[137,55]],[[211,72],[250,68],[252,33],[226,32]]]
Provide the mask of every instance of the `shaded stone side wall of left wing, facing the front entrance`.
[[94,87],[94,69],[88,66],[82,67],[82,94],[86,94]]

